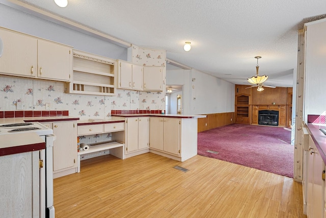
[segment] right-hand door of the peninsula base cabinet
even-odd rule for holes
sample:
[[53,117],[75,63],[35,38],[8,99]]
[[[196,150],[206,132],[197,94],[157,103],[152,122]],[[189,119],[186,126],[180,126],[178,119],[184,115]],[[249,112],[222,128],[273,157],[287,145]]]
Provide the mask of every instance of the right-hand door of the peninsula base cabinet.
[[163,129],[163,150],[180,155],[180,127],[181,120],[177,118],[165,118]]

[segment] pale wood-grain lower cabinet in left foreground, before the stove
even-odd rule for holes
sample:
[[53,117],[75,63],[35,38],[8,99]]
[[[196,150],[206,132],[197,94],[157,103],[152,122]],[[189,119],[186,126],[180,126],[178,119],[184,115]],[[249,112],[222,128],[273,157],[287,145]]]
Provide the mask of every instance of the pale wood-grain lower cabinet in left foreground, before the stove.
[[40,217],[40,152],[0,157],[1,217]]

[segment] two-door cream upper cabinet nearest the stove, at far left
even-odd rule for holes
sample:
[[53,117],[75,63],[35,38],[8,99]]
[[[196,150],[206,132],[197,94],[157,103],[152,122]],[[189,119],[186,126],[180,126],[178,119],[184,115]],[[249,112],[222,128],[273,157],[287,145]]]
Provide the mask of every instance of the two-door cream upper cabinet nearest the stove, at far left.
[[0,73],[12,76],[69,81],[71,47],[0,28],[3,54]]

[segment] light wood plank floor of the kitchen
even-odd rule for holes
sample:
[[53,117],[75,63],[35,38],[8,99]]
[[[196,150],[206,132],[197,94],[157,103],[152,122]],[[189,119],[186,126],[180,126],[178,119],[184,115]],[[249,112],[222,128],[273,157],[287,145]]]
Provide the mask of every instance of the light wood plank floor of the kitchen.
[[96,157],[54,186],[56,217],[307,217],[301,183],[199,155]]

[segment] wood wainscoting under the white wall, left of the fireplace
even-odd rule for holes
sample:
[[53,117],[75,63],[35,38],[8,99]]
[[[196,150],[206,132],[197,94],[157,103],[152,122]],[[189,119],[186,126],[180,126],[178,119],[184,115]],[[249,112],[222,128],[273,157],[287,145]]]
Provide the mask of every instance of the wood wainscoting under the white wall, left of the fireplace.
[[198,132],[234,124],[234,112],[210,113],[205,118],[198,118]]

